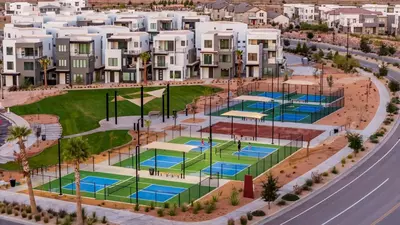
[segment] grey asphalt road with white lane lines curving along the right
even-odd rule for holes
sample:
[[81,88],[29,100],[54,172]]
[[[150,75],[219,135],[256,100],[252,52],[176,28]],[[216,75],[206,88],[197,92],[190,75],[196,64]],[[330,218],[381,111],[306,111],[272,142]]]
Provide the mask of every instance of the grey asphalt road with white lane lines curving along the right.
[[[331,46],[329,46],[331,47]],[[332,48],[332,47],[331,47]],[[396,59],[397,60],[397,59]],[[367,61],[363,66],[377,69]],[[390,71],[400,80],[400,73]],[[400,224],[400,127],[357,168],[316,191],[315,195],[262,224],[397,225]],[[340,169],[340,168],[339,168]]]

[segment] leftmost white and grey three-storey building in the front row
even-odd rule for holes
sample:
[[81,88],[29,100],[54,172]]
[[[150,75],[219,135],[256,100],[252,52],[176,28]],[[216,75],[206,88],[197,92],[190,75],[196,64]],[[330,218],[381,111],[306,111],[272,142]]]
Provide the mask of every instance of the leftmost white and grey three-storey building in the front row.
[[27,35],[3,40],[4,72],[1,74],[3,85],[43,84],[44,72],[39,60],[44,57],[51,61],[47,69],[48,83],[55,84],[52,51],[51,35]]

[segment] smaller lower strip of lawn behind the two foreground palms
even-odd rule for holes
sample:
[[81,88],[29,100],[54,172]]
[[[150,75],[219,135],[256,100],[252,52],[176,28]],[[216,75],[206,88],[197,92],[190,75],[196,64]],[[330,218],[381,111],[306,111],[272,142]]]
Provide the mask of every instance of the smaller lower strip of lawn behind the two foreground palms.
[[[90,134],[83,136],[89,142],[92,154],[99,154],[103,151],[111,149],[112,147],[117,147],[128,143],[132,137],[128,134],[126,130],[115,130],[99,132],[95,134]],[[63,147],[66,146],[68,139],[61,140],[61,151]],[[33,156],[29,159],[29,165],[31,169],[38,168],[41,166],[50,166],[58,163],[58,146],[53,145],[50,148],[46,148],[40,154]],[[20,165],[16,162],[8,162],[6,164],[0,164],[0,169],[4,170],[19,170]]]

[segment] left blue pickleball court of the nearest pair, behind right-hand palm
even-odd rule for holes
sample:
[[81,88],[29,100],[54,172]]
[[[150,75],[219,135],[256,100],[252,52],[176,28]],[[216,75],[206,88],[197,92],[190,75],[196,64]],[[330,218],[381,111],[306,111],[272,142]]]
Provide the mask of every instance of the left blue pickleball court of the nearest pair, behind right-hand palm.
[[[119,180],[104,177],[87,176],[81,179],[81,191],[94,193],[103,190],[105,186],[110,186],[117,182],[119,182]],[[71,191],[76,190],[75,182],[65,185],[63,189]]]

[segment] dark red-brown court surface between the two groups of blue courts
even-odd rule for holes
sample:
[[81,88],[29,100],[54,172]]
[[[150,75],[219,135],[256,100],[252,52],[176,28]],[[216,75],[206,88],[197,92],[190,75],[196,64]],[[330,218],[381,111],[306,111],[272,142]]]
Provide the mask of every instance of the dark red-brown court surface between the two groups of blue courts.
[[[201,132],[209,132],[209,127],[203,128]],[[258,137],[272,138],[272,126],[258,125]],[[233,134],[235,136],[254,137],[255,125],[233,123]],[[213,133],[218,134],[231,134],[231,123],[218,122],[213,125]],[[321,130],[291,128],[291,127],[277,127],[274,126],[274,139],[293,140],[299,135],[303,135],[303,140],[312,140],[318,135],[322,134]]]

